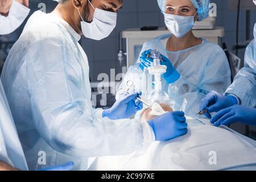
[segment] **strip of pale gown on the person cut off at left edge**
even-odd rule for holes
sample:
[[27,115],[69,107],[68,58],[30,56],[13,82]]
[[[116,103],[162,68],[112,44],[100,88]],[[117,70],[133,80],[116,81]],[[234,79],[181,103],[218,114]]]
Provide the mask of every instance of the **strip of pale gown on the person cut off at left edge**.
[[20,170],[27,170],[27,162],[19,142],[13,116],[0,81],[0,161]]

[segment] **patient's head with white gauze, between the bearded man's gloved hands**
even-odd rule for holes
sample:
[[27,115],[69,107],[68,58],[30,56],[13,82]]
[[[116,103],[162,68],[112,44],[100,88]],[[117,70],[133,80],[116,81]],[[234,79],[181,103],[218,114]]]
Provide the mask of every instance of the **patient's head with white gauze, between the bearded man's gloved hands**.
[[144,109],[141,113],[141,121],[150,121],[151,119],[162,115],[166,112],[173,111],[172,108],[167,104],[158,104],[154,102],[151,108]]

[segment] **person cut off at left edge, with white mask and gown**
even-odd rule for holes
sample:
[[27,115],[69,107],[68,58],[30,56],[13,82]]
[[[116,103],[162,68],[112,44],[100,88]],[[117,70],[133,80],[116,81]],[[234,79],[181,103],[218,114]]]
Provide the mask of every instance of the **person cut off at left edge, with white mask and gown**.
[[[2,1],[0,5],[0,35],[10,34],[16,30],[30,12],[30,9],[16,1]],[[28,169],[1,81],[0,162],[21,170]]]

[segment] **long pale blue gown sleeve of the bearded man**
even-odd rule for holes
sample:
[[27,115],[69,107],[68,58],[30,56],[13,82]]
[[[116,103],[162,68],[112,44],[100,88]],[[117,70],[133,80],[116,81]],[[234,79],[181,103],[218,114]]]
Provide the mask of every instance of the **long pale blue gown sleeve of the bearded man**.
[[122,155],[142,146],[138,120],[112,121],[102,118],[101,109],[92,109],[84,86],[89,74],[73,56],[79,52],[65,44],[55,38],[39,40],[26,55],[36,130],[54,150],[73,156]]

